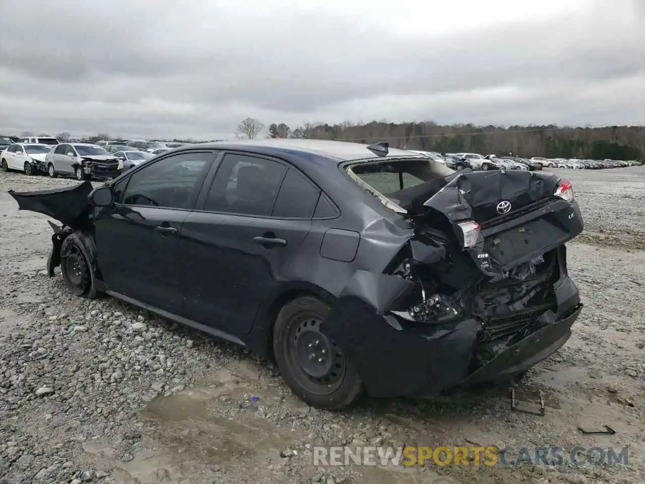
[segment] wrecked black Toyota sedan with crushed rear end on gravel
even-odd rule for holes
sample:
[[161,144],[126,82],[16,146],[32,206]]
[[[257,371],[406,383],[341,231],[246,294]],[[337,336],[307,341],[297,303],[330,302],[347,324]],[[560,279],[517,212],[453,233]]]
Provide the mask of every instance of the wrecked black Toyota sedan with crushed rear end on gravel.
[[582,304],[554,174],[454,172],[387,143],[184,146],[102,187],[10,192],[54,228],[48,272],[273,358],[310,405],[513,381]]

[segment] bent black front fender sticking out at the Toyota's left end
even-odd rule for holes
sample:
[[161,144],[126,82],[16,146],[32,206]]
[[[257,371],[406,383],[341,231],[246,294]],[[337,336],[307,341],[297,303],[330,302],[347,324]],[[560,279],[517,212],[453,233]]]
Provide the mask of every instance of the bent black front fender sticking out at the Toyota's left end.
[[38,212],[60,221],[63,225],[74,225],[81,216],[91,210],[88,195],[94,188],[90,181],[84,181],[74,187],[39,190],[37,192],[14,192],[10,196],[18,203],[20,210]]

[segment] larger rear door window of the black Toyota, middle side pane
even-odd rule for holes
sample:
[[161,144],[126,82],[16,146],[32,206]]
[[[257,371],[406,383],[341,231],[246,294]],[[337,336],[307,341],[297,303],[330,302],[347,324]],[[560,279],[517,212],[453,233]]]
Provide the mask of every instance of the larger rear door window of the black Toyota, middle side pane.
[[204,210],[270,216],[286,166],[255,156],[227,154],[206,197]]

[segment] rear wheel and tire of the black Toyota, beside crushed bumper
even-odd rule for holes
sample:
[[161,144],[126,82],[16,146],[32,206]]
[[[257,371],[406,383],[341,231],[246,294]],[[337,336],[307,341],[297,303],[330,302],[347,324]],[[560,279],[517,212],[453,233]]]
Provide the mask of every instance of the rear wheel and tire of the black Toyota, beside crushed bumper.
[[332,410],[351,405],[362,381],[340,347],[320,331],[330,308],[312,296],[286,304],[273,328],[273,354],[286,384],[308,405]]

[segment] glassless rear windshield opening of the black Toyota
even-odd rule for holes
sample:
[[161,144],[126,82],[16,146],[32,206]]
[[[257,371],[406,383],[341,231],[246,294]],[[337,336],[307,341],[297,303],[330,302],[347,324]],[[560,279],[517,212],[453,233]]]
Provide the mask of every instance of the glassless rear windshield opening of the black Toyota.
[[420,213],[423,204],[446,185],[444,177],[454,173],[429,158],[370,161],[346,169],[354,181],[386,207],[411,215]]

